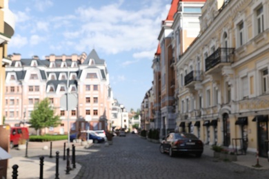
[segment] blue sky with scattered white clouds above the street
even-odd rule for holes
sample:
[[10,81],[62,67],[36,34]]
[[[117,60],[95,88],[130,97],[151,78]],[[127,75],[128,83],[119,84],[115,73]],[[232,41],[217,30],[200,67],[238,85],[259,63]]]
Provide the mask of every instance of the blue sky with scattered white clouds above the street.
[[16,18],[8,54],[39,59],[96,50],[114,98],[140,109],[152,87],[152,60],[172,0],[10,0]]

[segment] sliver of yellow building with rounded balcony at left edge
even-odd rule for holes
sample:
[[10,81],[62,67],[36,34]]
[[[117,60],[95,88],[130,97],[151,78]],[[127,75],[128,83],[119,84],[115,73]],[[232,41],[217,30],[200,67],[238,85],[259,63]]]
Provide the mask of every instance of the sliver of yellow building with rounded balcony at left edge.
[[8,42],[14,34],[14,14],[8,9],[8,0],[0,0],[0,125],[3,125],[5,98],[5,66],[11,64],[8,56]]

